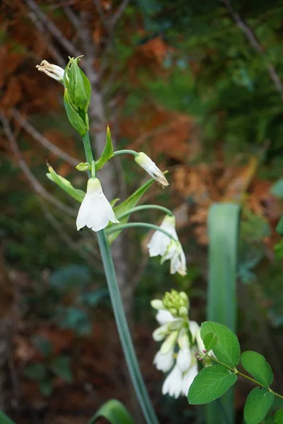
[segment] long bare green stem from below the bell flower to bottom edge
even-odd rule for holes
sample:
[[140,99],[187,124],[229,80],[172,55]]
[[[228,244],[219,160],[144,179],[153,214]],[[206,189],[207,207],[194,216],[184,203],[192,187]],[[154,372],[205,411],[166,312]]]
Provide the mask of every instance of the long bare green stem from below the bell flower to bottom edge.
[[146,418],[146,423],[158,424],[154,408],[151,405],[149,394],[146,391],[144,380],[139,370],[139,363],[137,362],[137,357],[134,353],[134,346],[132,343],[132,338],[129,334],[127,319],[125,317],[125,312],[122,305],[120,290],[118,287],[115,268],[110,252],[110,246],[107,240],[105,230],[98,231],[98,244],[103,260],[106,279],[108,282],[108,288],[112,301],[115,320],[117,323],[117,329],[122,343],[122,348],[126,358],[127,366],[129,368],[129,375],[131,376],[132,384],[134,385],[134,389],[139,399],[139,404],[141,405],[144,417]]

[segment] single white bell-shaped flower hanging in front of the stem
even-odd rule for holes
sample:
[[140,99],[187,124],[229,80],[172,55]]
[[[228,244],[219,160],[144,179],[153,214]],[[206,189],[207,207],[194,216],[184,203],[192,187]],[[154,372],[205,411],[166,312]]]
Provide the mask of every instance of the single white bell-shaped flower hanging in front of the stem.
[[86,196],[84,196],[76,218],[78,230],[84,226],[93,231],[105,228],[109,221],[119,223],[109,201],[103,194],[100,181],[96,177],[88,179]]

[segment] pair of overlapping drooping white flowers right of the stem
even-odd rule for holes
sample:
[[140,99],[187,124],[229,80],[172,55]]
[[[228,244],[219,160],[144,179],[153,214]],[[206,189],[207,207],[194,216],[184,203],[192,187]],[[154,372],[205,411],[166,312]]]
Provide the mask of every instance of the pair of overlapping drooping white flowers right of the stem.
[[175,216],[166,215],[160,228],[168,232],[174,240],[161,231],[154,232],[148,245],[149,256],[161,256],[161,264],[170,259],[171,274],[178,272],[181,276],[185,276],[187,273],[185,253],[175,230]]

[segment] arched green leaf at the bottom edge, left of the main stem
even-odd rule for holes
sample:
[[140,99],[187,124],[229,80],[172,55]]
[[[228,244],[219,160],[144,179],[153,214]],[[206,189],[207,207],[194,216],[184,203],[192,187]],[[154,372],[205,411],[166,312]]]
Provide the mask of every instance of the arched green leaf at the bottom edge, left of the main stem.
[[88,424],[94,424],[100,417],[108,420],[110,424],[134,424],[134,420],[125,406],[121,402],[116,401],[116,399],[110,399],[110,401],[103,404]]

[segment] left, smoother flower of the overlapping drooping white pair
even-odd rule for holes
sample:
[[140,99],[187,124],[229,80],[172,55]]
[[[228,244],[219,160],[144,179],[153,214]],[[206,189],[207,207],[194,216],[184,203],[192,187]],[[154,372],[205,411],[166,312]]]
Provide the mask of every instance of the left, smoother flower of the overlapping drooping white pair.
[[[166,230],[175,238],[175,240],[178,240],[178,235],[175,230],[175,216],[166,215],[160,225],[160,228],[162,228],[162,230]],[[170,243],[171,238],[168,235],[156,230],[147,245],[147,247],[149,247],[149,256],[156,257],[160,255],[162,257],[163,254],[166,253]]]

